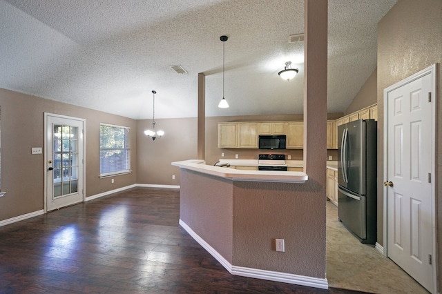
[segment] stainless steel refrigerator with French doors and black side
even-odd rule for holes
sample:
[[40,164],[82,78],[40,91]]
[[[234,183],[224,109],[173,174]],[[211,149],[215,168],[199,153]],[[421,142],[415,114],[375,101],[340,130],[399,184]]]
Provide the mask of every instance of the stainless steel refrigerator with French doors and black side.
[[338,217],[365,244],[376,242],[376,121],[338,126]]

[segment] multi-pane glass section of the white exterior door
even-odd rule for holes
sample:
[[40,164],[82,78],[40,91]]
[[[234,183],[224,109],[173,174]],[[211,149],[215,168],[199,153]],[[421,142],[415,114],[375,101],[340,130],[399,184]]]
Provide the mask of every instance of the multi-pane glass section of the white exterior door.
[[78,192],[78,128],[53,125],[54,198]]

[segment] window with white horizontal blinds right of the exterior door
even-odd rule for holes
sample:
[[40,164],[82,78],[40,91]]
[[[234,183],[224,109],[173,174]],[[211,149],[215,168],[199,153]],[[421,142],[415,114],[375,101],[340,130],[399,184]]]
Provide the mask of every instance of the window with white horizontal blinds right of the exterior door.
[[100,124],[99,175],[131,173],[131,128]]

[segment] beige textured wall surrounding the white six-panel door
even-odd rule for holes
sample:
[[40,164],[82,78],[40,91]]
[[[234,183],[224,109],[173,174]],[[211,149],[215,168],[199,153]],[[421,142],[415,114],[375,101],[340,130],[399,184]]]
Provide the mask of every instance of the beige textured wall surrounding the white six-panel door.
[[[434,63],[442,62],[442,1],[400,0],[378,23],[378,242],[383,244],[383,90]],[[434,99],[437,109],[437,170],[442,168],[442,107],[440,102],[442,72]],[[436,206],[442,204],[442,173],[436,182]],[[439,273],[442,273],[442,209],[436,209],[438,229]],[[442,278],[439,275],[439,284]]]

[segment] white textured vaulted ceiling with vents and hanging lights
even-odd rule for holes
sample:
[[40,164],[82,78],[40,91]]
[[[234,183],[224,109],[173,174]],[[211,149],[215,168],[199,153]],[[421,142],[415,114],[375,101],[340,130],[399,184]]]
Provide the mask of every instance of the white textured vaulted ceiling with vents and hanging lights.
[[[396,0],[329,0],[329,112],[376,68],[377,23]],[[303,0],[0,0],[0,88],[131,117],[302,113]],[[222,41],[225,45],[222,98]],[[299,74],[278,77],[285,62]],[[181,65],[177,74],[169,66]]]

